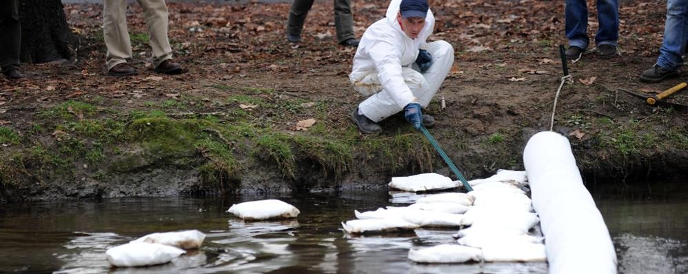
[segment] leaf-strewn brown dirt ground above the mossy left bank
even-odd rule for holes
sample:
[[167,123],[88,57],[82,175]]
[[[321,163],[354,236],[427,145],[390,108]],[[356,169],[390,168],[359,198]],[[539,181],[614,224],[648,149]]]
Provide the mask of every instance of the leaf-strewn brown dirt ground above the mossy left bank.
[[[562,77],[558,45],[565,43],[563,1],[430,2],[437,19],[431,40],[448,41],[456,52],[452,73],[430,106],[429,112],[438,120],[432,132],[469,179],[498,168],[523,168],[520,153],[527,139],[549,130]],[[659,92],[682,81],[638,81],[640,72],[658,56],[665,3],[621,2],[620,56],[601,59],[591,53],[569,62],[571,81],[558,98],[554,130],[569,137],[587,182],[626,184],[685,177],[686,112],[679,107],[647,106],[619,92],[621,88]],[[594,1],[589,1],[589,7],[594,7]],[[347,77],[355,49],[336,44],[330,2],[314,4],[299,46],[285,39],[290,3],[168,3],[168,8],[174,60],[188,73],[152,72],[141,8],[132,4],[128,12],[132,65],[139,75],[107,76],[102,6],[66,5],[65,14],[79,40],[75,59],[25,64],[28,79],[0,79],[0,123],[24,134],[44,122],[37,113],[68,100],[99,102],[112,110],[112,117],[174,101],[185,101],[186,107],[167,108],[172,114],[222,112],[237,104],[220,104],[216,99],[260,88],[276,92],[270,100],[327,102],[327,115],[318,121],[328,128],[351,126],[350,112],[363,99]],[[381,19],[386,8],[387,1],[352,1],[357,37]],[[589,36],[594,37],[596,11],[589,10]],[[688,101],[688,91],[667,101],[682,104]],[[297,121],[312,117],[308,111],[279,118],[272,110],[250,111],[255,119],[268,119],[275,130],[291,134],[296,133]],[[401,119],[389,120],[382,123],[383,137],[396,135],[399,127],[406,126]],[[12,146],[3,149],[8,153]],[[366,160],[354,155],[352,161]],[[438,157],[432,166],[447,171]],[[385,170],[385,166],[373,169]],[[383,181],[385,176],[375,179]],[[345,181],[364,179],[349,176]]]

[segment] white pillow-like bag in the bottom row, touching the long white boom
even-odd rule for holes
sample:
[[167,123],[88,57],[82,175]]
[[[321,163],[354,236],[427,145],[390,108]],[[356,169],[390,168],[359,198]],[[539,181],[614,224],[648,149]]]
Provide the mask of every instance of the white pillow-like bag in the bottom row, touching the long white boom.
[[[547,262],[544,244],[504,242],[483,246],[482,249],[485,262]],[[579,262],[579,264],[585,264],[585,262]],[[551,268],[549,273],[552,273]]]

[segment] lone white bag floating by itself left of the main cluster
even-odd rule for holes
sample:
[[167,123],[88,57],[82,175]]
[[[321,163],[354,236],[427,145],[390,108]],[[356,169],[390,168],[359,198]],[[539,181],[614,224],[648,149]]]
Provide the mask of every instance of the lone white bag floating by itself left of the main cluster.
[[248,221],[261,219],[291,219],[299,216],[299,209],[280,201],[279,199],[265,199],[261,201],[233,204],[228,213]]

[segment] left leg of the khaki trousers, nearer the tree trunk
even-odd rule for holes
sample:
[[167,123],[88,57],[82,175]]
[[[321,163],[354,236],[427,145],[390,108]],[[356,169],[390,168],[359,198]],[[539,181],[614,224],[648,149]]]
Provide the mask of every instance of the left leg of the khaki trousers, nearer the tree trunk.
[[103,39],[108,48],[105,55],[108,70],[132,57],[126,12],[126,0],[103,0]]

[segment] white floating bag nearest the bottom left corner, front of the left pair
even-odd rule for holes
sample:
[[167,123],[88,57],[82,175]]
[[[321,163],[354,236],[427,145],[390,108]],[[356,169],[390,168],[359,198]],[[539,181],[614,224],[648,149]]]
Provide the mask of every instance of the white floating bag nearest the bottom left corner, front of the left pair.
[[136,242],[115,246],[105,251],[113,266],[152,266],[165,264],[186,253],[182,249],[164,244]]

